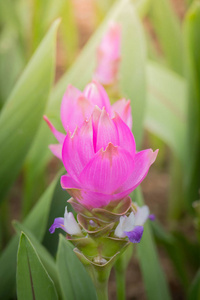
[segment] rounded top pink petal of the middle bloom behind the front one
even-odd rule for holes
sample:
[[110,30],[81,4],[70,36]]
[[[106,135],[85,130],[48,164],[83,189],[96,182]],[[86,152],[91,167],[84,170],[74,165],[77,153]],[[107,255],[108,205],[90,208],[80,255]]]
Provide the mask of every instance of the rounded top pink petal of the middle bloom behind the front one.
[[105,107],[107,113],[111,113],[111,105],[105,89],[96,81],[89,83],[83,94],[93,104],[97,105],[100,109]]

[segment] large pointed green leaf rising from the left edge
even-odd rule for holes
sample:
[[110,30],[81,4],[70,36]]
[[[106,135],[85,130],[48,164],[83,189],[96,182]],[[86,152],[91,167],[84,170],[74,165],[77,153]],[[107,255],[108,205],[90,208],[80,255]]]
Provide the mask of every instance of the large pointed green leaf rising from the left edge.
[[5,197],[38,129],[52,85],[56,21],[16,84],[0,115],[0,193]]

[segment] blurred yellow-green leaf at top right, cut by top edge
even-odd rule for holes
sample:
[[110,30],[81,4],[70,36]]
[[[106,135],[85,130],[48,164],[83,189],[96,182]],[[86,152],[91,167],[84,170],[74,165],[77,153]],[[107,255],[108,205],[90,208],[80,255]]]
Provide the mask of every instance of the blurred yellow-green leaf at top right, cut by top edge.
[[169,0],[151,0],[149,18],[168,66],[183,74],[183,41],[180,21]]

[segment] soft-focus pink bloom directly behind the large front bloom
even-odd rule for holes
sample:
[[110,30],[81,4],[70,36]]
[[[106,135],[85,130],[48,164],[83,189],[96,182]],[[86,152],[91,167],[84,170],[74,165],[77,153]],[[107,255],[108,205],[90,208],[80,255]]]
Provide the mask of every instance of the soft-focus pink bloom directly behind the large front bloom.
[[[110,117],[117,112],[122,120],[130,128],[132,127],[130,101],[121,99],[111,106],[105,89],[98,82],[93,81],[86,86],[83,92],[72,85],[68,86],[61,104],[61,121],[65,131],[73,133],[77,126],[80,127],[85,120],[89,120],[95,105],[100,109],[104,107]],[[59,144],[50,145],[49,148],[55,156],[62,159],[62,145],[66,133],[57,131],[46,116],[44,116],[44,120],[59,142]]]

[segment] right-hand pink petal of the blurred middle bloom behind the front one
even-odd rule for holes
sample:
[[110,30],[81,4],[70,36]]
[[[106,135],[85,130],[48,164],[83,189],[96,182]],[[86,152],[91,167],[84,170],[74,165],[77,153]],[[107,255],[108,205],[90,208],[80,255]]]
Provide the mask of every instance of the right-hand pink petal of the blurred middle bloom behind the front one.
[[132,128],[132,114],[130,100],[121,99],[112,105],[113,116],[117,112],[120,118],[126,123],[126,125]]

